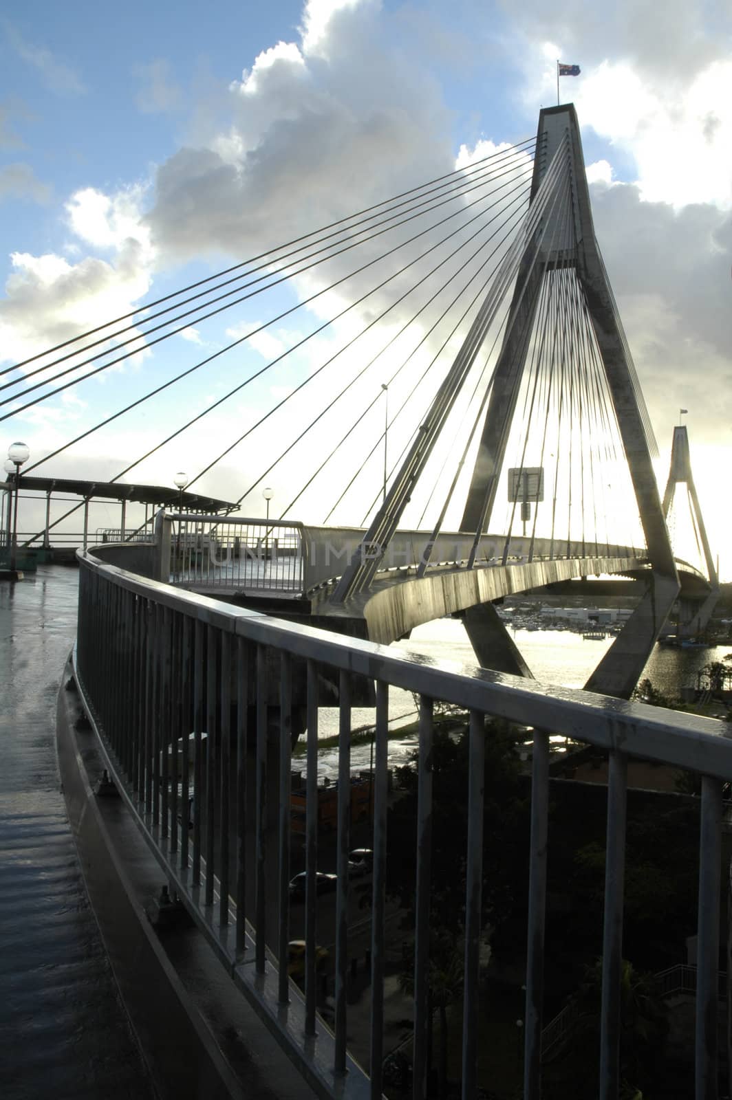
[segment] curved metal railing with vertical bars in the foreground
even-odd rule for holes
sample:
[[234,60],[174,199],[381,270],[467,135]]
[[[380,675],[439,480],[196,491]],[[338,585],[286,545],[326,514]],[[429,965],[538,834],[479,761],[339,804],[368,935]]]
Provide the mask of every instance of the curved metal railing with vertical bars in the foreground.
[[[477,1091],[479,952],[482,932],[483,759],[485,717],[534,727],[524,1097],[540,1091],[544,924],[547,870],[549,733],[609,754],[600,1079],[618,1097],[620,976],[626,768],[640,756],[701,773],[696,1097],[717,1096],[721,792],[732,777],[732,741],[713,719],[547,688],[485,670],[455,671],[367,641],[287,624],[146,581],[89,553],[79,554],[76,675],[112,774],[174,889],[208,936],[234,983],[323,1097],[382,1093],[384,1052],[387,717],[392,686],[419,700],[418,813],[415,847],[415,1096],[424,1096],[428,1046],[433,701],[469,715],[466,779],[463,1097]],[[373,882],[369,1076],[346,1048],[350,712],[360,680],[375,683]],[[318,705],[327,682],[339,708],[335,1031],[317,1019]],[[287,978],[289,927],[291,732],[307,708],[305,834],[305,996]],[[247,735],[255,737],[248,761]],[[273,732],[267,732],[273,727]],[[266,773],[267,738],[278,744],[276,777]],[[277,825],[267,832],[266,800]],[[192,801],[193,800],[193,801]],[[186,827],[190,806],[190,828]],[[252,809],[253,807],[253,809]],[[250,842],[253,843],[254,854]],[[252,895],[253,903],[249,906]],[[270,908],[267,910],[267,902]],[[272,913],[275,916],[272,920]],[[267,924],[267,913],[270,923]],[[251,922],[251,923],[250,923]],[[600,945],[598,945],[600,948]],[[348,1070],[348,1072],[346,1072]]]

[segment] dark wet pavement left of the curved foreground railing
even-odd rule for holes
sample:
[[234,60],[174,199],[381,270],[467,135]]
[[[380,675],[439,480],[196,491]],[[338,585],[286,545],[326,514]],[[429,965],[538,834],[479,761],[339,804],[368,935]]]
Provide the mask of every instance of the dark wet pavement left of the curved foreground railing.
[[59,790],[56,695],[76,569],[0,584],[0,1094],[148,1100]]

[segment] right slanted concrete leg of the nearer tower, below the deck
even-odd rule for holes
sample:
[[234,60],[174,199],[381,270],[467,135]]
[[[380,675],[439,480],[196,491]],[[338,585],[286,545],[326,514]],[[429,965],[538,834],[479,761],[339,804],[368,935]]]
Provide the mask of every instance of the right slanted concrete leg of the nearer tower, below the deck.
[[677,594],[675,580],[652,574],[645,595],[584,684],[586,691],[631,697]]

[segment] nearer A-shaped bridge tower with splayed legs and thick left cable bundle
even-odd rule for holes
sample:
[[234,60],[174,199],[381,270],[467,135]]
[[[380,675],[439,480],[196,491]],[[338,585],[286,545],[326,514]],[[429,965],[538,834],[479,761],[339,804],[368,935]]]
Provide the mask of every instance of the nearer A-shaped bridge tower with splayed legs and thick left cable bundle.
[[[575,273],[582,308],[591,320],[651,565],[644,576],[644,595],[586,685],[592,691],[627,697],[676,600],[679,579],[652,464],[653,433],[594,237],[579,124],[572,105],[540,112],[531,205],[512,249],[510,262],[494,278],[360,551],[341,576],[332,603],[342,604],[371,586],[457,394],[495,319],[498,301],[511,287],[515,271],[502,350],[460,525],[461,531],[473,540],[468,568],[474,566],[480,538],[491,521],[542,287],[555,268],[569,270]],[[515,250],[518,250],[517,255]],[[516,266],[511,267],[511,263]],[[427,543],[427,558],[438,530],[439,526]],[[531,675],[492,604],[470,608],[465,614],[465,624],[481,664]]]

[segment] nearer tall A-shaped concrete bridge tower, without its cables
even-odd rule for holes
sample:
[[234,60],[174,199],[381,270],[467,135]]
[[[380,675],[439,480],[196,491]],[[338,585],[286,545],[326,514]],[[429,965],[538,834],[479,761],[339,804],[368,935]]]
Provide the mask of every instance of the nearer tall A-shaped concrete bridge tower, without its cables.
[[[586,688],[607,695],[629,697],[674,605],[679,580],[652,464],[653,442],[643,397],[594,235],[579,124],[571,103],[546,108],[540,112],[532,199],[539,193],[547,169],[562,143],[566,143],[571,177],[571,221],[568,228],[558,227],[558,234],[550,238],[556,241],[559,235],[560,248],[555,248],[545,257],[544,264],[538,264],[529,250],[524,256],[461,528],[485,530],[491,519],[538,302],[538,287],[533,287],[532,282],[538,283],[558,263],[573,266],[602,358],[652,566],[643,597]],[[547,217],[556,219],[558,215],[551,212]],[[481,610],[487,626],[490,622],[490,629],[493,632],[499,630],[493,608]],[[466,626],[469,628],[468,623]]]

